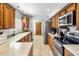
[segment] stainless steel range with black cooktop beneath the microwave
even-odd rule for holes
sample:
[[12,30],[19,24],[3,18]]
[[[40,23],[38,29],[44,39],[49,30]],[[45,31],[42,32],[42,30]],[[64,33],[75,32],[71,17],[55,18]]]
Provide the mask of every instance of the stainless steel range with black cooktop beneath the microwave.
[[[75,35],[74,35],[75,36]],[[54,55],[55,56],[64,56],[64,44],[79,44],[79,38],[74,37],[71,34],[66,35],[63,40],[61,40],[61,37],[55,37],[54,39]]]

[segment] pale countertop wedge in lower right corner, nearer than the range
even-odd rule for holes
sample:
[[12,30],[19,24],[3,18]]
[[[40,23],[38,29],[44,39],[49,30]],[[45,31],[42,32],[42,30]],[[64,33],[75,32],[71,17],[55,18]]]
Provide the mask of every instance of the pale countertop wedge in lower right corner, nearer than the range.
[[63,45],[69,52],[75,56],[79,56],[79,45]]

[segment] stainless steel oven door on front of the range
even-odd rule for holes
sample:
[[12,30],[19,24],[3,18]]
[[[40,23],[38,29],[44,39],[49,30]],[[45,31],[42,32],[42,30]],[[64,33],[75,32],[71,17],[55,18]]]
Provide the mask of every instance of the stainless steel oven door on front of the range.
[[60,41],[58,41],[57,39],[54,39],[54,54],[57,56],[58,55],[63,56],[62,43]]

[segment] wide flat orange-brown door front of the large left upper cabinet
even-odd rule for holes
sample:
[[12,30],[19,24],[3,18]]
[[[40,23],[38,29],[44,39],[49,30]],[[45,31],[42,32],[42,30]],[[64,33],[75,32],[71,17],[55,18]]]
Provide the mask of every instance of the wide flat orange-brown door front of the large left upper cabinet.
[[4,4],[4,28],[10,28],[10,8],[7,4]]

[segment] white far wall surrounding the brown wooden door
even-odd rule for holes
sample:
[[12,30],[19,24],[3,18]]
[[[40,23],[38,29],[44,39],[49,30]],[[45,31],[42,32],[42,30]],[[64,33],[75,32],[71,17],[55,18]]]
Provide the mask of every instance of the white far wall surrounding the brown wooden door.
[[38,19],[36,17],[32,17],[30,19],[30,26],[29,26],[29,30],[31,30],[33,32],[33,34],[36,34],[36,22],[41,22],[42,23],[42,34],[44,34],[45,32],[45,22],[42,19]]

